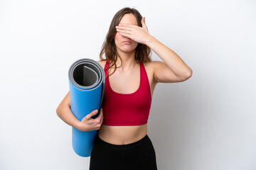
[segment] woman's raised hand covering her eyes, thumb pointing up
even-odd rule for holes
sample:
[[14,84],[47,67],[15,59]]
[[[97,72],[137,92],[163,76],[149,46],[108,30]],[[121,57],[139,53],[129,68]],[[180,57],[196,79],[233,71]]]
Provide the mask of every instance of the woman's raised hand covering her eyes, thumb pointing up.
[[150,36],[149,30],[146,28],[145,17],[142,18],[142,27],[127,23],[119,23],[119,26],[116,26],[116,28],[117,32],[121,35],[142,44],[146,44]]

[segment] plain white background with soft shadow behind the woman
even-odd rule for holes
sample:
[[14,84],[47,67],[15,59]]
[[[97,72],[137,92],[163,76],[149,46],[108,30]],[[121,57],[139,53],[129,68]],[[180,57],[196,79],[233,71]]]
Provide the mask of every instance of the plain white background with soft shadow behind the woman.
[[[157,84],[148,122],[159,169],[256,169],[255,1],[0,1],[0,169],[88,169],[55,109],[68,69],[99,60],[119,9],[191,69]],[[154,52],[153,60],[160,60]]]

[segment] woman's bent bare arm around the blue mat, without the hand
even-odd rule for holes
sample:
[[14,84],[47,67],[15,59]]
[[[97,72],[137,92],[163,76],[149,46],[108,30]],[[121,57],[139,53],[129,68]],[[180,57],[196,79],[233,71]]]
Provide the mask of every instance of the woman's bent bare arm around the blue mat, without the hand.
[[72,113],[70,109],[70,91],[65,96],[63,101],[61,101],[60,105],[56,109],[56,113],[60,119],[62,119],[65,123],[79,130],[80,120],[75,118],[75,115]]

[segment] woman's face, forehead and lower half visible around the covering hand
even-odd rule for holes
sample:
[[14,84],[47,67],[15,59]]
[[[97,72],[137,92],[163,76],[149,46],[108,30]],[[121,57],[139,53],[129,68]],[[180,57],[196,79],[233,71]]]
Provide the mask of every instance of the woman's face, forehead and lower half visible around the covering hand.
[[[132,13],[126,13],[124,16],[122,16],[122,19],[120,23],[128,23],[132,25],[138,26],[137,19]],[[124,41],[132,42],[131,44],[126,43]],[[118,32],[116,35],[114,35],[114,42],[117,46],[117,52],[121,50],[122,52],[131,52],[132,50],[135,50],[135,48],[138,45],[138,42],[125,37],[124,35],[119,34]]]

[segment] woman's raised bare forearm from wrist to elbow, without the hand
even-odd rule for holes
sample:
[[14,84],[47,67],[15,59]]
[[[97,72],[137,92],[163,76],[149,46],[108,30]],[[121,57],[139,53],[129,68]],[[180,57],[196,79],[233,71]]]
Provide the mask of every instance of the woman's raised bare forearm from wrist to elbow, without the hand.
[[191,68],[183,62],[181,57],[178,57],[173,50],[166,47],[164,44],[159,42],[159,40],[156,40],[152,35],[149,35],[146,45],[149,46],[151,50],[153,50],[177,76],[182,77],[184,73],[191,74]]

